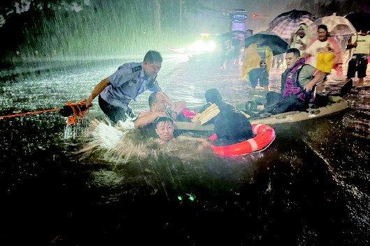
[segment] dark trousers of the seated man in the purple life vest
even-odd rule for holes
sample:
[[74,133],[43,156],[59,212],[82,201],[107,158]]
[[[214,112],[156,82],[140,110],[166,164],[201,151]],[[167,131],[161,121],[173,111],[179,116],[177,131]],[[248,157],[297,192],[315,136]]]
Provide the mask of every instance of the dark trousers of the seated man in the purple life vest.
[[266,99],[266,111],[271,114],[281,114],[291,111],[304,111],[309,107],[308,102],[300,100],[295,95],[291,95],[285,100],[282,100],[281,93],[272,91],[267,93]]

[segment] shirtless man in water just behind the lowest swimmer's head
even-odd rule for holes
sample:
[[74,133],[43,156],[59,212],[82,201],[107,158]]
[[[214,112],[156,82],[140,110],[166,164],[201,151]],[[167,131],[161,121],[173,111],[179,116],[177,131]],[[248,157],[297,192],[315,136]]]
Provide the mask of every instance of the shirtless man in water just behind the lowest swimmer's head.
[[140,113],[134,123],[135,129],[142,130],[142,134],[147,135],[147,137],[156,137],[154,121],[159,117],[168,116],[176,121],[191,121],[191,118],[195,116],[195,112],[186,108],[184,101],[169,105],[165,95],[159,91],[151,93],[148,102],[149,111]]

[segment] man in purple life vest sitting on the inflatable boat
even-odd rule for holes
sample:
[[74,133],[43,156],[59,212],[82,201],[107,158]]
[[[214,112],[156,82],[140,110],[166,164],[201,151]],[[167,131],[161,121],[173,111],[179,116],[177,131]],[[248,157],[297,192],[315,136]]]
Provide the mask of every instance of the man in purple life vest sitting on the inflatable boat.
[[286,51],[287,68],[281,75],[281,93],[267,93],[264,112],[281,114],[302,111],[309,107],[309,102],[314,99],[316,84],[321,82],[326,74],[305,62],[298,49],[291,48]]

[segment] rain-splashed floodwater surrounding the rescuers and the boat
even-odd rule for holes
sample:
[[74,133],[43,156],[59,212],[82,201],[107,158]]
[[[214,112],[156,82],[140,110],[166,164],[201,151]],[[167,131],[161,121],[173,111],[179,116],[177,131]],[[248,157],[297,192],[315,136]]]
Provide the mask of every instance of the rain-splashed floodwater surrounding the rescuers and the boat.
[[[132,60],[131,60],[132,61]],[[1,72],[0,112],[61,107],[86,98],[125,60],[16,66]],[[272,89],[279,90],[274,69]],[[189,107],[216,87],[249,98],[239,67],[165,58],[163,91]],[[330,77],[335,91],[343,78]],[[111,163],[86,139],[64,139],[57,113],[0,121],[1,245],[368,245],[369,86],[341,114],[276,127],[262,153],[223,159],[159,154]],[[149,93],[131,105],[147,109]],[[101,118],[97,102],[88,119]]]

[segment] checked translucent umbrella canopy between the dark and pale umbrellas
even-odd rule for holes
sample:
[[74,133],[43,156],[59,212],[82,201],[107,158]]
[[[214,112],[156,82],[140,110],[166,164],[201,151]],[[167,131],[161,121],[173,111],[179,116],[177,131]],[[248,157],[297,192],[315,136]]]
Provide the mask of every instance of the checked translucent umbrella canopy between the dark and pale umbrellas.
[[278,15],[272,22],[269,23],[268,31],[276,33],[281,38],[290,39],[292,34],[297,31],[299,24],[309,26],[315,17],[304,10],[291,10]]

